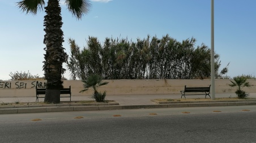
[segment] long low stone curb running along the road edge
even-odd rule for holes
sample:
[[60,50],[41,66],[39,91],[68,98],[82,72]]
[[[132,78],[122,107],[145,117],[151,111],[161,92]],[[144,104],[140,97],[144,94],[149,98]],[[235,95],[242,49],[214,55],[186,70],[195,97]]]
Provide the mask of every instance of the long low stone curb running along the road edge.
[[5,106],[1,107],[0,114],[18,114],[18,113],[33,113],[33,112],[64,112],[64,111],[96,111],[96,110],[122,110],[122,109],[153,109],[153,108],[175,108],[175,107],[214,107],[214,106],[244,106],[256,105],[256,101],[251,102],[205,102],[205,103],[168,103],[157,105],[125,105],[121,106],[118,103],[109,105],[52,105],[52,106]]

